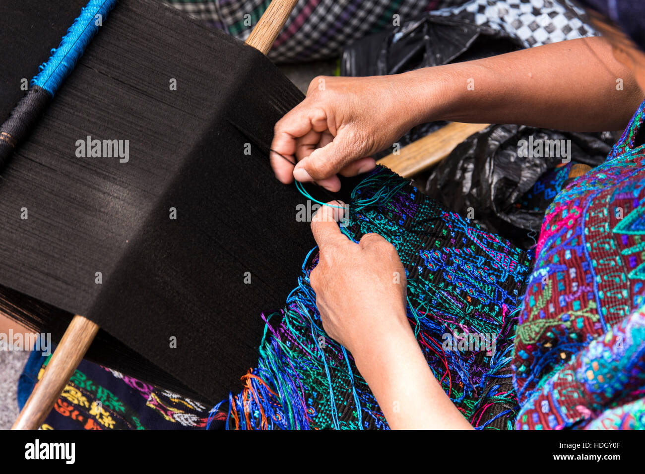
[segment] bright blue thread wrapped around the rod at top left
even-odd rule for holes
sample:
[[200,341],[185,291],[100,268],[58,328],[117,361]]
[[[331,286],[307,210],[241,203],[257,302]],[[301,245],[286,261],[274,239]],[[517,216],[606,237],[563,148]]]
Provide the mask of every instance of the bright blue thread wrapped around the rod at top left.
[[96,15],[101,15],[103,22],[116,3],[117,0],[90,0],[67,30],[58,48],[51,51],[48,61],[39,66],[40,72],[32,79],[32,85],[40,86],[54,96],[99,30],[95,23]]

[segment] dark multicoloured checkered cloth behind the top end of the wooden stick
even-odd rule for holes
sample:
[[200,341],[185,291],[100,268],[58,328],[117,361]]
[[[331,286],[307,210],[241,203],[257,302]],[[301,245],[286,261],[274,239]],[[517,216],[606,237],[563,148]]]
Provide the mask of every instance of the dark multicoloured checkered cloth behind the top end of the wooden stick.
[[[162,0],[208,26],[245,40],[270,0]],[[275,63],[337,57],[343,46],[395,20],[428,10],[462,5],[464,0],[299,0],[269,53]],[[399,15],[395,17],[395,15]]]

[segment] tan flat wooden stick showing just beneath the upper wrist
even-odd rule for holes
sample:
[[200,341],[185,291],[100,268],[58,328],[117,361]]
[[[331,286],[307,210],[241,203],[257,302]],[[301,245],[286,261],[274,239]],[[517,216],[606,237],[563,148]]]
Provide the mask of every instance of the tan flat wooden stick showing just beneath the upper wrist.
[[482,123],[451,122],[436,132],[404,146],[398,155],[382,157],[379,164],[387,166],[404,178],[410,178],[450,155],[455,146],[487,126],[488,124]]

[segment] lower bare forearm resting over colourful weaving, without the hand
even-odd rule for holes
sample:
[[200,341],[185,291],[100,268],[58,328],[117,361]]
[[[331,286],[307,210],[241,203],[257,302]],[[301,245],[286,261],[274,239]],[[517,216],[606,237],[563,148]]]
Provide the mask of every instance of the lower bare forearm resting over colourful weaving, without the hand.
[[378,342],[353,356],[390,428],[472,428],[428,368],[410,326],[373,337]]

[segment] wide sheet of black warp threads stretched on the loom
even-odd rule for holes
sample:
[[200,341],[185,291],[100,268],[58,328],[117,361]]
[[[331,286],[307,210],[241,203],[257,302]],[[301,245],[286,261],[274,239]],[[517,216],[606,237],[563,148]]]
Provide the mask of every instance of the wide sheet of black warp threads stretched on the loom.
[[[0,310],[55,338],[84,315],[102,328],[92,360],[212,402],[239,390],[261,311],[315,245],[267,157],[301,99],[250,46],[119,1],[0,174]],[[77,157],[88,136],[128,140],[128,163]]]

